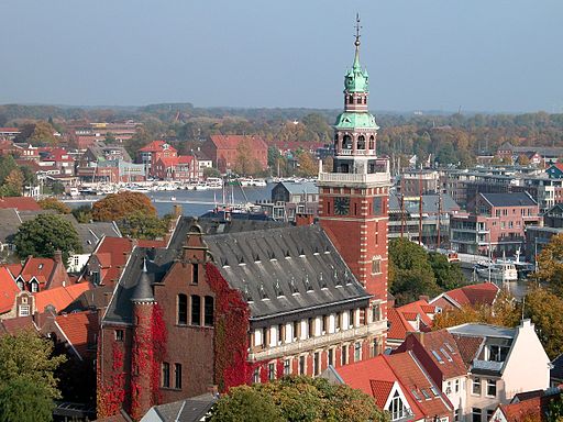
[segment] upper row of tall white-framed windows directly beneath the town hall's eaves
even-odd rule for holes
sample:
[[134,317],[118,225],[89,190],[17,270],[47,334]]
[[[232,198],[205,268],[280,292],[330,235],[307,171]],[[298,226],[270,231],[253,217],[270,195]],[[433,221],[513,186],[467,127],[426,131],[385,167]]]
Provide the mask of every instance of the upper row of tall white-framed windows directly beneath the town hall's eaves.
[[[380,321],[380,307],[374,304],[371,308],[369,321]],[[292,343],[298,340],[307,340],[324,334],[333,334],[339,331],[361,326],[361,310],[350,310],[330,315],[309,318],[307,320],[294,321],[287,324],[278,324],[271,327],[263,327],[254,331],[255,347],[274,347],[283,343]]]

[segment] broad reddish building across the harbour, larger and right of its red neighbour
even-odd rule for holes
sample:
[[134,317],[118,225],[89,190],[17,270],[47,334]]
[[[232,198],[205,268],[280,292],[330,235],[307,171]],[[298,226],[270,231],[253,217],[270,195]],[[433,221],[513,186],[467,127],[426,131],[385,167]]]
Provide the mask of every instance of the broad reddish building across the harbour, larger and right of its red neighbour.
[[249,149],[253,159],[258,164],[260,170],[268,165],[268,146],[257,136],[245,135],[211,135],[202,145],[201,151],[211,158],[213,165],[221,173],[234,169],[241,146]]

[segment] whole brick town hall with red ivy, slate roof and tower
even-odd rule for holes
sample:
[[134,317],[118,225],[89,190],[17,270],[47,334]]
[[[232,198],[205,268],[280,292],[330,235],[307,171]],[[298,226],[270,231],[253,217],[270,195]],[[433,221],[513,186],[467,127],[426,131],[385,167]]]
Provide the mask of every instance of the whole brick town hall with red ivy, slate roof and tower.
[[319,224],[181,216],[165,248],[133,248],[101,322],[99,418],[383,352],[390,178],[367,100],[356,33]]

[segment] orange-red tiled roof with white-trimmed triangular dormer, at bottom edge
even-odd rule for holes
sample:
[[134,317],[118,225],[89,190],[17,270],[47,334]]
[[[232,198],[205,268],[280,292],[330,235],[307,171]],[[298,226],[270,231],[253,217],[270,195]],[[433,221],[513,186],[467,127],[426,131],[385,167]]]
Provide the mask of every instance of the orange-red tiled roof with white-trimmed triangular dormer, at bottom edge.
[[329,367],[322,376],[374,397],[391,421],[453,420],[450,401],[411,352]]

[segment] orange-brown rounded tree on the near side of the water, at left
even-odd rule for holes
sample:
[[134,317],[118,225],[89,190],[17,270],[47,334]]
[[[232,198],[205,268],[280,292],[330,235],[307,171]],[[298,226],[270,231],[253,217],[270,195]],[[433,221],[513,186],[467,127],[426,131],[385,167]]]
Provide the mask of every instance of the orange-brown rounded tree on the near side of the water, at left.
[[119,221],[135,212],[146,215],[156,215],[156,209],[151,199],[141,192],[110,193],[92,206],[92,219],[95,221]]

